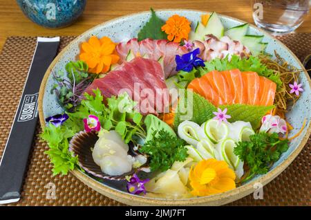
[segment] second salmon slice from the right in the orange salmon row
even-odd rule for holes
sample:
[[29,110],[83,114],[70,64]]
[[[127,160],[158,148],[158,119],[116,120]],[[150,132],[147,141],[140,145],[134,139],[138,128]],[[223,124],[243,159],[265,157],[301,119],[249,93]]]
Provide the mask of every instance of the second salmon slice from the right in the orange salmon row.
[[260,78],[255,72],[245,71],[242,72],[243,82],[245,85],[245,93],[247,93],[247,104],[259,105],[259,87]]

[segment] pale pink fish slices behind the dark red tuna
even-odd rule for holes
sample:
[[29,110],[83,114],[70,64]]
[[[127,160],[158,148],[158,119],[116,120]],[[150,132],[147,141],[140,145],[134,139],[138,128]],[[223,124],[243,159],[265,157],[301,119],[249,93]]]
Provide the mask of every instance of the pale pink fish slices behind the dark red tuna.
[[126,61],[129,51],[135,57],[143,56],[156,61],[162,57],[165,78],[176,74],[176,55],[188,53],[185,47],[166,39],[144,39],[138,42],[138,39],[133,38],[129,42],[117,44],[115,49],[120,56],[120,64]]

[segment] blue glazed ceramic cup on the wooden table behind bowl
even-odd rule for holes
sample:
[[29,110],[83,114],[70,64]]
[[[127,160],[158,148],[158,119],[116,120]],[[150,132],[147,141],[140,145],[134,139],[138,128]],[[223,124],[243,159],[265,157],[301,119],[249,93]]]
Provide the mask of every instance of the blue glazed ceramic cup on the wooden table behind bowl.
[[62,28],[82,15],[86,0],[17,0],[23,13],[46,28]]

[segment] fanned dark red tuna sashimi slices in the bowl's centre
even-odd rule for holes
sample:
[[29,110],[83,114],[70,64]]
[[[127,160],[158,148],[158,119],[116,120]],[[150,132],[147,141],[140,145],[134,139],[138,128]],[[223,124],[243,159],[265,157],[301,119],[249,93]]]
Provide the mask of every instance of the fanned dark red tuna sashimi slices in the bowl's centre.
[[124,62],[106,76],[94,80],[85,92],[93,94],[93,89],[97,88],[105,98],[128,93],[144,115],[158,115],[169,107],[169,91],[162,67],[152,59],[135,57],[131,62]]

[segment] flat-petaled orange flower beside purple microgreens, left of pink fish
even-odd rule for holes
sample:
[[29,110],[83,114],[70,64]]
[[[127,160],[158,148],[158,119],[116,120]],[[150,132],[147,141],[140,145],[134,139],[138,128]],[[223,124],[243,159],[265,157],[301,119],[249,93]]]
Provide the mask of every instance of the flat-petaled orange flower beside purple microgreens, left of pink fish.
[[106,73],[111,64],[116,64],[120,57],[115,52],[115,43],[109,37],[98,39],[90,37],[88,42],[81,44],[79,59],[88,64],[90,73]]

